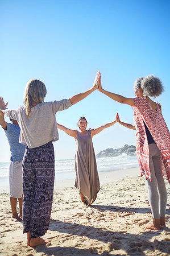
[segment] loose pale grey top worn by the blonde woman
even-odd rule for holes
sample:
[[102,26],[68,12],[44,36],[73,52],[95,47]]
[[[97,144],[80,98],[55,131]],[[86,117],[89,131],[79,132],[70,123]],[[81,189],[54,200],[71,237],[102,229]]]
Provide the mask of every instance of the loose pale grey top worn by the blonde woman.
[[6,109],[3,112],[9,118],[17,120],[20,127],[19,142],[34,148],[59,139],[55,114],[70,106],[72,104],[69,99],[42,102],[31,108],[30,117],[26,115],[26,106],[13,110]]

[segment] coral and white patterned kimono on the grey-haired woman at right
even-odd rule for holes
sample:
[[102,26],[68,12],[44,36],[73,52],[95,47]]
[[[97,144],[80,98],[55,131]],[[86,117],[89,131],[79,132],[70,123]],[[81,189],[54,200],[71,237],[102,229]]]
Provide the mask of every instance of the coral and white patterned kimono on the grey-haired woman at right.
[[[159,106],[154,111],[150,102],[143,97],[134,98],[134,123],[136,127],[136,154],[138,157],[141,176],[144,175],[151,181],[149,146],[144,122],[150,131],[157,147],[161,152],[163,175],[170,183],[170,133],[164,121]],[[143,122],[144,121],[144,122]]]

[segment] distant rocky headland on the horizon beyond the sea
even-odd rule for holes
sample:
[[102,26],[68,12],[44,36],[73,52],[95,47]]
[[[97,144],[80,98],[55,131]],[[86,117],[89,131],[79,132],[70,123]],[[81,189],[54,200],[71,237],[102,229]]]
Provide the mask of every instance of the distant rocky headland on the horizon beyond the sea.
[[124,147],[119,147],[116,149],[106,148],[105,150],[100,151],[96,156],[97,158],[106,158],[119,156],[125,153],[126,155],[135,156],[136,155],[136,147],[134,145],[128,146],[127,144]]

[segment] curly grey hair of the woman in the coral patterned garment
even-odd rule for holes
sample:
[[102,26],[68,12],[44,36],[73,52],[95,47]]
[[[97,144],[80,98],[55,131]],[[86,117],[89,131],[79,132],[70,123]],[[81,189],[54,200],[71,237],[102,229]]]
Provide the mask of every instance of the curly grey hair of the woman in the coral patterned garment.
[[160,79],[153,75],[136,79],[134,89],[138,90],[139,88],[142,88],[144,97],[151,96],[155,98],[164,91]]

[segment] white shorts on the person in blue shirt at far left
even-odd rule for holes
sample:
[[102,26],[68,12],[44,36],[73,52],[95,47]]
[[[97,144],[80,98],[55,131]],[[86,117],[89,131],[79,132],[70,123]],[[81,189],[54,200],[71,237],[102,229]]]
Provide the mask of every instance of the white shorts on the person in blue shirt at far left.
[[10,163],[10,197],[21,198],[22,189],[22,161]]

